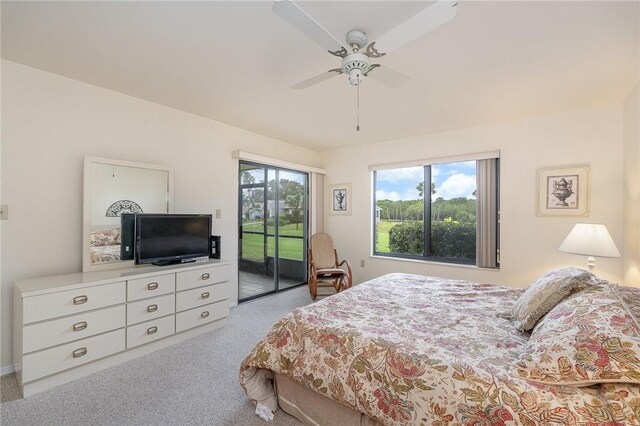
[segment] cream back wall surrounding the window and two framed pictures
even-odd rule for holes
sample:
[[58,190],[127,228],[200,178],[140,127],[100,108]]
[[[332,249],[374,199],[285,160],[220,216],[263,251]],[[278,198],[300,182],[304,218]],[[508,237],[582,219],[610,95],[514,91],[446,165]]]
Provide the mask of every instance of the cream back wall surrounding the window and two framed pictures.
[[[354,266],[356,282],[402,271],[524,287],[552,267],[586,268],[586,257],[560,252],[558,246],[576,222],[589,221],[605,223],[622,247],[622,117],[620,104],[324,152],[325,188],[353,185],[352,215],[330,216],[325,207],[325,230],[340,257]],[[501,151],[499,271],[370,257],[369,165],[493,150]],[[537,169],[580,163],[591,166],[590,216],[537,217]],[[365,260],[365,268],[360,260]],[[598,259],[596,271],[618,281],[622,261]]]

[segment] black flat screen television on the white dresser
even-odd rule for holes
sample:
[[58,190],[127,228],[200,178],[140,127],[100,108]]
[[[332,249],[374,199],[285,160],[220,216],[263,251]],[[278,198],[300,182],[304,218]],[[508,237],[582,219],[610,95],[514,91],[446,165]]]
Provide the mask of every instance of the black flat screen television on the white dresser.
[[137,214],[135,262],[169,265],[210,254],[211,215]]

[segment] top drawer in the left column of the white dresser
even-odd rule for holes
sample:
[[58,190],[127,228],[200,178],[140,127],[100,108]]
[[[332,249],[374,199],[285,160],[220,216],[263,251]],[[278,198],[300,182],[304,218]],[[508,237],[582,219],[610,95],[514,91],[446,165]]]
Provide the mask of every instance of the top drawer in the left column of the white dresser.
[[124,281],[81,288],[79,290],[25,297],[23,299],[23,322],[29,324],[117,305],[118,303],[124,303],[124,298]]

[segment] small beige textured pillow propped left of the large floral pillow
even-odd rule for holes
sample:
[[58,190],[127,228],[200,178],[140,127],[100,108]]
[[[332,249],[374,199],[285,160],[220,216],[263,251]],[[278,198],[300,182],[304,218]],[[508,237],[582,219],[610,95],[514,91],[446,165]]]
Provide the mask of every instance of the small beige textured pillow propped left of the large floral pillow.
[[547,272],[531,284],[511,309],[513,325],[520,331],[530,331],[547,312],[565,297],[596,277],[584,269],[560,268]]

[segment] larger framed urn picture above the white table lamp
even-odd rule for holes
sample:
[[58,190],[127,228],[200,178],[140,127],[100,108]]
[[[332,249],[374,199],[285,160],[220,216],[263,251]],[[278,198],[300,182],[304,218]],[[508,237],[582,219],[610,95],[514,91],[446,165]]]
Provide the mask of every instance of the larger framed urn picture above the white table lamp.
[[589,216],[589,166],[538,170],[538,216]]

